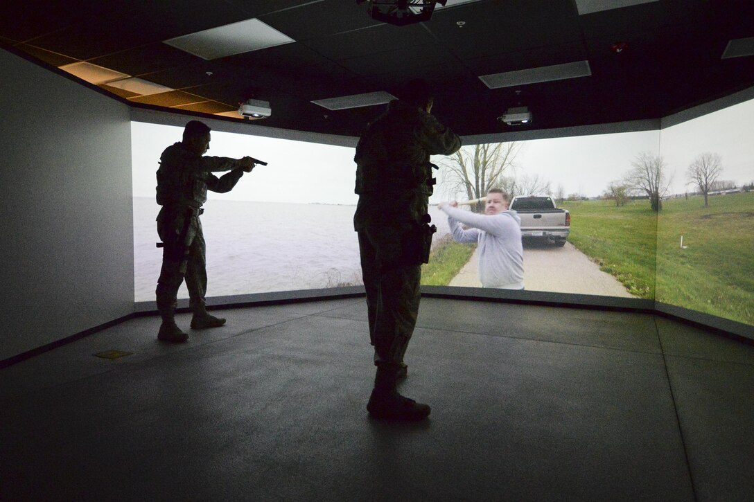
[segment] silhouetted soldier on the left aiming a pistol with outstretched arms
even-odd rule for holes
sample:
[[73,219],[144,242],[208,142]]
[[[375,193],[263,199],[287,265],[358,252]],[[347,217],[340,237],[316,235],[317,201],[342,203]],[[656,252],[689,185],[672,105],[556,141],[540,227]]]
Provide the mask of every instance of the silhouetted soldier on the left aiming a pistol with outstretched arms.
[[[207,200],[207,189],[230,191],[241,176],[254,167],[251,157],[232,159],[204,156],[210,148],[210,127],[190,121],[183,130],[182,142],[165,148],[157,170],[157,232],[163,246],[162,270],[157,283],[157,308],[162,324],[157,338],[182,342],[189,338],[176,326],[176,297],[184,278],[189,289],[189,305],[194,312],[193,329],[215,328],[225,324],[207,313],[206,247],[199,215]],[[218,178],[213,171],[230,171]]]

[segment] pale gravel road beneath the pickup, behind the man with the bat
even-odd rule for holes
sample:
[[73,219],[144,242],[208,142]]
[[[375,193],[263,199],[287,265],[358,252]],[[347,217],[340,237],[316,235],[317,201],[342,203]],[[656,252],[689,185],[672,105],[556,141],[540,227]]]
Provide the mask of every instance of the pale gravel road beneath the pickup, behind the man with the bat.
[[[477,252],[450,281],[450,286],[482,287],[477,274]],[[608,295],[633,298],[615,277],[599,270],[571,243],[557,247],[550,243],[524,243],[523,283],[527,290]]]

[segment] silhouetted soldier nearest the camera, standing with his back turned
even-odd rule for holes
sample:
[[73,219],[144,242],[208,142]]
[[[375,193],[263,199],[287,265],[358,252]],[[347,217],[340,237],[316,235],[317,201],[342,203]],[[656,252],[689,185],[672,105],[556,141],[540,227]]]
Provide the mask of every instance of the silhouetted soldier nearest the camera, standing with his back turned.
[[411,81],[401,99],[369,124],[356,147],[354,214],[361,270],[375,347],[375,387],[366,409],[375,418],[423,420],[430,407],[397,393],[406,375],[403,354],[414,331],[421,264],[428,262],[434,225],[428,199],[434,178],[430,155],[451,155],[461,140],[430,115],[425,81]]

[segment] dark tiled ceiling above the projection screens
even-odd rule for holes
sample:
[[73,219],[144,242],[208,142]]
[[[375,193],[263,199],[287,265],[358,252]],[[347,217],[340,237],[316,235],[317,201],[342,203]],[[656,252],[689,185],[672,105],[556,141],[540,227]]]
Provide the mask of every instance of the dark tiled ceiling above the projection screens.
[[[163,43],[255,17],[296,42],[212,61]],[[465,135],[501,130],[496,118],[519,102],[535,114],[529,129],[572,127],[659,118],[752,87],[754,56],[721,59],[728,41],[754,37],[752,19],[754,2],[739,0],[583,16],[574,0],[479,0],[400,27],[355,0],[29,0],[0,5],[0,45],[45,68],[87,61],[176,90],[139,98],[100,87],[134,106],[206,116],[255,97],[273,108],[257,124],[320,133],[357,135],[384,106],[328,111],[311,100],[425,78],[434,113]],[[616,42],[627,47],[612,51]],[[501,89],[477,78],[582,60],[590,77]]]

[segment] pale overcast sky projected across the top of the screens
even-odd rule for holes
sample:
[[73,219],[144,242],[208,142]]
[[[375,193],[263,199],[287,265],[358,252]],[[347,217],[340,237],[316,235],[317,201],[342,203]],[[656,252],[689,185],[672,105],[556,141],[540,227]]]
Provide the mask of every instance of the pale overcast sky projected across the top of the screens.
[[[182,128],[133,122],[133,195],[155,196],[155,171],[161,152],[180,141]],[[685,191],[685,170],[696,155],[716,152],[722,158],[721,179],[737,184],[754,181],[754,100],[713,112],[660,131],[616,133],[523,142],[516,158],[520,175],[538,175],[565,194],[602,194],[608,183],[630,170],[639,152],[661,152],[671,193]],[[250,155],[269,163],[246,174],[233,191],[210,194],[225,200],[258,200],[323,204],[355,204],[353,148],[287,139],[212,132],[207,155],[241,158]],[[441,158],[433,158],[437,163]],[[436,190],[431,202],[445,197]]]

